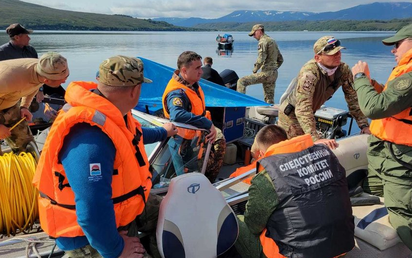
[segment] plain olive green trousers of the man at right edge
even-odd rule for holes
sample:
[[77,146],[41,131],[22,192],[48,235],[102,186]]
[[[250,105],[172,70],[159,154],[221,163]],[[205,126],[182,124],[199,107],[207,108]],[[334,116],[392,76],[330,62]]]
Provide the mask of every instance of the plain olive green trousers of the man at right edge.
[[368,177],[363,189],[385,198],[389,221],[412,250],[412,170],[396,160],[412,166],[412,147],[391,144],[374,135],[369,136],[368,143]]

